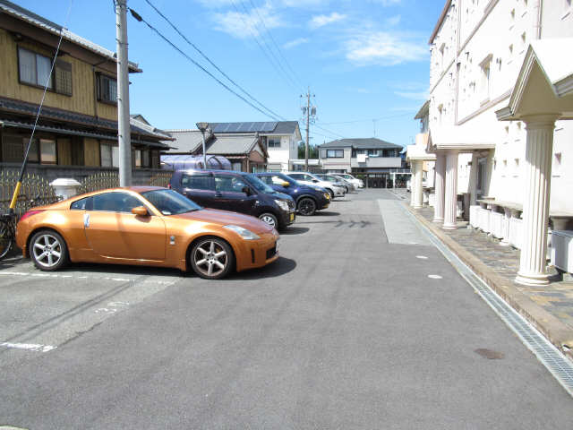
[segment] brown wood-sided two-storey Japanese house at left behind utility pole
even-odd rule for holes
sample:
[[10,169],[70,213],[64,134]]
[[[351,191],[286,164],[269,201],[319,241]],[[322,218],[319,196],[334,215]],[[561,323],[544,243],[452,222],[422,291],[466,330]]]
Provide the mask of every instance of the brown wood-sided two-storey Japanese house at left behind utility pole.
[[[60,25],[0,0],[3,169],[21,165],[61,31]],[[116,171],[118,166],[115,53],[63,31],[29,158],[28,170],[48,180],[81,179],[102,170]],[[129,71],[141,73],[131,62]],[[161,141],[171,139],[141,118],[131,121],[136,183],[159,168],[159,150],[168,149],[168,143]]]

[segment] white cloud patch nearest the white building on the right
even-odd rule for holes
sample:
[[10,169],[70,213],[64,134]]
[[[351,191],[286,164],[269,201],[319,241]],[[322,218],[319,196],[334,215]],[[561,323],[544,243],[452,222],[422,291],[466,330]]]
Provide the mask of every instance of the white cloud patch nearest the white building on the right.
[[428,55],[422,40],[386,31],[355,34],[344,47],[346,58],[357,65],[394,65],[421,61]]

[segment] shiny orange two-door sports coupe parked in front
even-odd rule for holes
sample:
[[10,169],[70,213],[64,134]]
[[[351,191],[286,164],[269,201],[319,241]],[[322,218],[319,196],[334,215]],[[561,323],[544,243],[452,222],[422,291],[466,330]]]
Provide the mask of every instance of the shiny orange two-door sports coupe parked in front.
[[167,188],[131,186],[77,195],[26,212],[16,243],[41,271],[67,262],[191,267],[201,278],[278,259],[278,233],[259,219],[203,209]]

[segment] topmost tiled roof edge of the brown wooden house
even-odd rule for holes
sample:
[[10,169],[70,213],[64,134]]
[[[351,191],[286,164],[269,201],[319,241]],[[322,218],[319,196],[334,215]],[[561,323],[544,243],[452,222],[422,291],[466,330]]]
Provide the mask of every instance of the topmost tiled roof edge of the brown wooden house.
[[[100,47],[99,45],[91,42],[88,39],[83,39],[81,36],[78,36],[72,31],[63,29],[61,25],[58,25],[55,22],[48,21],[46,18],[39,16],[38,14],[33,13],[28,9],[24,9],[18,4],[13,4],[12,2],[8,2],[7,0],[0,0],[0,11],[8,13],[13,17],[20,19],[21,21],[28,22],[35,27],[47,30],[50,33],[54,33],[57,36],[60,35],[60,32],[62,30],[64,30],[64,39],[67,39],[70,42],[75,43],[76,45],[88,49],[91,52],[98,54],[99,56],[104,56],[107,59],[112,60],[114,62],[116,61],[115,52],[110,51],[105,47]],[[139,68],[138,64],[130,61],[129,66],[131,72],[141,72],[141,69]]]

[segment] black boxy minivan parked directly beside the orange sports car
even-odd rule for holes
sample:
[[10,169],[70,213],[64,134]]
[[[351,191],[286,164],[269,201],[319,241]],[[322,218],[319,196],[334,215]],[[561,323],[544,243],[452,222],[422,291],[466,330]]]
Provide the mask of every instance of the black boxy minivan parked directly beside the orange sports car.
[[278,230],[295,222],[295,200],[251,173],[175,170],[169,187],[206,208],[246,213]]

